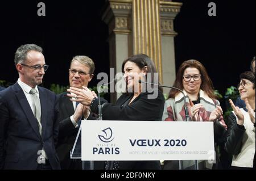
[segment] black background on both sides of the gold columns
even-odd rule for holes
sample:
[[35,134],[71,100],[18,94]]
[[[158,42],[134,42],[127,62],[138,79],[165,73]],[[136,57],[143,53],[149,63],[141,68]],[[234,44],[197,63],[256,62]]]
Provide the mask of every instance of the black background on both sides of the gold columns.
[[[43,86],[68,85],[69,62],[75,55],[87,55],[96,72],[109,73],[108,26],[101,20],[105,0],[43,1],[46,16],[38,16],[40,1],[1,2],[0,79],[18,79],[14,53],[22,44],[42,46],[50,65]],[[180,1],[175,19],[176,69],[189,59],[202,62],[215,89],[224,94],[249,70],[255,55],[255,1]],[[208,16],[208,3],[215,2],[217,16]],[[96,77],[89,86],[97,85]]]

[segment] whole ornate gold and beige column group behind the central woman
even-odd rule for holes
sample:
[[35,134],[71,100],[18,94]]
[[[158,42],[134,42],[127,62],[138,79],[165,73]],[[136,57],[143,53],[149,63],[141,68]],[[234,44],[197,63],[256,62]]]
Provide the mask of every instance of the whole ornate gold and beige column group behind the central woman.
[[109,26],[110,68],[122,71],[123,60],[144,53],[154,60],[160,82],[172,85],[174,19],[181,5],[170,0],[108,0],[102,19]]

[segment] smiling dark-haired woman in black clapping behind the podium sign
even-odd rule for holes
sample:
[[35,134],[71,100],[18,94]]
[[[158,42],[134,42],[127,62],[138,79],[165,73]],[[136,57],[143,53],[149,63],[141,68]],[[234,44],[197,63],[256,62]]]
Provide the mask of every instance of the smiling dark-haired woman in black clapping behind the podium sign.
[[[134,121],[161,121],[164,96],[159,87],[155,87],[153,92],[147,90],[139,80],[146,81],[146,78],[154,79],[156,68],[154,62],[145,54],[136,54],[127,58],[122,64],[123,79],[126,82],[126,92],[122,94],[116,104],[108,103],[100,98],[102,104],[103,120],[134,120]],[[148,76],[148,77],[147,77]],[[80,102],[90,107],[90,111],[98,114],[97,95],[87,87],[83,90],[71,87],[69,92],[77,96],[68,94],[70,98],[76,98]],[[138,89],[136,89],[138,88]],[[145,88],[143,91],[143,88]],[[151,96],[156,92],[155,98]],[[112,161],[105,163],[107,170],[151,170],[161,169],[159,161]]]

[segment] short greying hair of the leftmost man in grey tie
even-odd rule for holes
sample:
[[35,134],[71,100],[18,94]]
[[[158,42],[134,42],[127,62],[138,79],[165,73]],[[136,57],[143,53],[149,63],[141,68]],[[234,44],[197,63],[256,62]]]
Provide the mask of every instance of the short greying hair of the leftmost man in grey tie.
[[35,50],[37,52],[43,53],[43,48],[39,47],[38,45],[35,44],[26,44],[26,45],[21,45],[15,53],[14,57],[14,63],[15,65],[23,63],[24,61],[27,60],[27,53],[31,50]]

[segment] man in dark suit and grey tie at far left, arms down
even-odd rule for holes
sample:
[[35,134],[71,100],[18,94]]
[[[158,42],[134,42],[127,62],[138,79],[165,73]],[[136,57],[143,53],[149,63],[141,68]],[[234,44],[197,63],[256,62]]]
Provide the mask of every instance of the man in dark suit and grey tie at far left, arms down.
[[43,87],[43,50],[22,45],[15,53],[18,81],[0,92],[0,169],[60,169],[56,95]]

